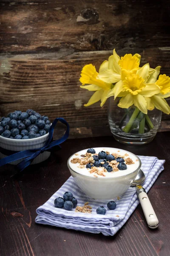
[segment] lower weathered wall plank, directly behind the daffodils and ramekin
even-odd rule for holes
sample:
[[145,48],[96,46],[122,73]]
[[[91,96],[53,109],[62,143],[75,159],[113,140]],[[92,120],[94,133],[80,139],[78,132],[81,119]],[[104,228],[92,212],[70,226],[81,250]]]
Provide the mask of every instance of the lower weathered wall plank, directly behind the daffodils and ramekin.
[[[133,50],[130,52],[133,53]],[[125,50],[118,51],[124,55]],[[170,48],[154,48],[139,52],[142,64],[161,65],[161,73],[170,74],[167,61]],[[111,134],[108,127],[107,103],[85,108],[92,92],[79,87],[81,69],[93,63],[97,70],[111,51],[72,52],[28,55],[1,55],[3,73],[0,82],[0,115],[6,116],[16,109],[33,108],[49,119],[64,117],[71,125],[71,138]],[[167,63],[167,64],[165,64]],[[163,114],[160,131],[170,129]],[[61,126],[60,126],[61,127]],[[62,127],[61,127],[62,128]],[[60,131],[59,131],[60,133]]]

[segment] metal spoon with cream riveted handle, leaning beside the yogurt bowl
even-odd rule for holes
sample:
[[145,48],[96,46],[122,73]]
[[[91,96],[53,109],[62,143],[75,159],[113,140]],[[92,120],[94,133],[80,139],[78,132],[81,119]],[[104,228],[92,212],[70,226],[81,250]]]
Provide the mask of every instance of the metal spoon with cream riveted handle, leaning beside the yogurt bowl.
[[131,184],[131,186],[136,186],[136,193],[141,203],[144,216],[147,221],[147,225],[148,227],[154,229],[158,227],[159,221],[158,221],[158,218],[156,217],[156,214],[153,210],[153,207],[150,203],[150,200],[147,196],[145,189],[141,186],[141,184],[144,183],[145,179],[146,179],[145,174],[140,169],[138,175],[136,176],[135,180],[133,180],[133,183]]

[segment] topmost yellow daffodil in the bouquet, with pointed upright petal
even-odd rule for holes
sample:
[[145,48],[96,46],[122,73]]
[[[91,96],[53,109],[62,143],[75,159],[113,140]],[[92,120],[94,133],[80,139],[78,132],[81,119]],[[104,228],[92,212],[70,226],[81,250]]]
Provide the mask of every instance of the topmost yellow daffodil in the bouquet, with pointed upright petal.
[[125,54],[124,57],[119,57],[115,49],[113,55],[108,59],[108,69],[99,73],[99,79],[107,83],[116,83],[124,80],[128,74],[135,74],[139,69],[141,55]]

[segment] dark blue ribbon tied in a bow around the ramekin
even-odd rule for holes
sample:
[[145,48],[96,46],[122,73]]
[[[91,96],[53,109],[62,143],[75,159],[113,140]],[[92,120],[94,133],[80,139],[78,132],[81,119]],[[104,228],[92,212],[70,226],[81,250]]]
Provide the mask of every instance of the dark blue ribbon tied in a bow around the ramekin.
[[[54,133],[54,127],[56,126],[58,121],[65,124],[67,126],[67,129],[65,131],[65,134],[62,136],[62,138],[52,141],[52,137],[53,137],[53,133]],[[56,118],[56,119],[54,119],[52,125],[50,126],[49,138],[48,138],[48,140],[46,141],[45,145],[42,148],[27,149],[27,150],[24,150],[24,151],[10,151],[10,150],[6,150],[4,148],[0,148],[0,152],[2,154],[7,153],[6,155],[8,155],[8,154],[11,153],[10,155],[8,155],[8,157],[4,157],[3,159],[0,159],[0,166],[5,165],[6,163],[11,163],[13,161],[25,158],[22,162],[20,162],[17,165],[17,168],[20,171],[23,171],[23,169],[25,169],[28,165],[30,165],[31,162],[34,160],[34,158],[37,157],[39,154],[43,153],[44,151],[51,151],[51,149],[54,148],[54,147],[56,148],[56,146],[58,148],[61,148],[59,146],[59,144],[63,143],[65,140],[67,140],[68,136],[69,136],[69,124],[68,124],[68,122],[66,122],[64,118],[61,118],[61,117]]]

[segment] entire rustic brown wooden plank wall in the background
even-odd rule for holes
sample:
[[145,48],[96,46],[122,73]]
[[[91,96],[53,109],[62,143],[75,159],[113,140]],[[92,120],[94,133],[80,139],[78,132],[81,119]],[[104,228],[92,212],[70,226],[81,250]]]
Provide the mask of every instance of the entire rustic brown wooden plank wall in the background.
[[[170,75],[170,0],[1,0],[0,116],[34,108],[62,116],[71,137],[110,134],[107,104],[85,108],[85,64],[97,68],[116,48]],[[160,131],[170,129],[163,114]]]

